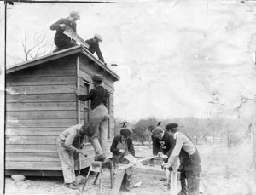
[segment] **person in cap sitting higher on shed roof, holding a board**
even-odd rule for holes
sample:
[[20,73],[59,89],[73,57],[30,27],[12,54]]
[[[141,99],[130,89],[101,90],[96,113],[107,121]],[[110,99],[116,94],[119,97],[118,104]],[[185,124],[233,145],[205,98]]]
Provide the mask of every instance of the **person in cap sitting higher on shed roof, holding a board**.
[[[71,48],[77,44],[71,40],[70,37],[67,37],[63,32],[65,28],[69,26],[74,32],[77,32],[76,21],[80,20],[80,15],[77,11],[72,11],[69,14],[68,18],[61,18],[50,26],[50,30],[56,31],[55,33],[55,51]],[[55,52],[54,51],[54,52]]]

